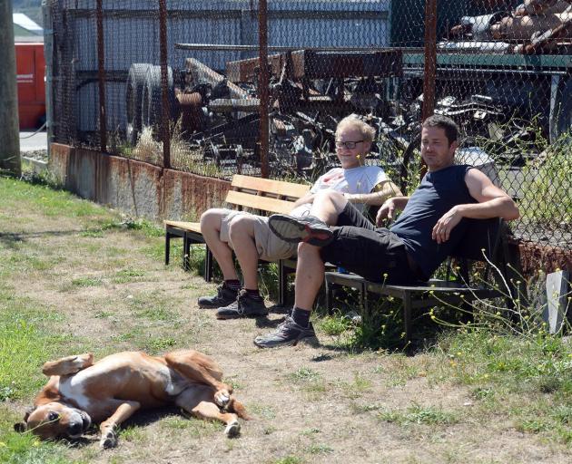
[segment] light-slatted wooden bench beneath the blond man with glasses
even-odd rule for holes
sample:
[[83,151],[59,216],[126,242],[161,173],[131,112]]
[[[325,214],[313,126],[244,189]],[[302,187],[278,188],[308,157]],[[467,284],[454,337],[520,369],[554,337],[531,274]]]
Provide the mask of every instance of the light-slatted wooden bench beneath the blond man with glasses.
[[[231,189],[224,201],[229,208],[238,210],[247,208],[254,214],[289,213],[294,202],[309,191],[309,185],[235,174],[232,177]],[[201,224],[171,220],[165,220],[163,223],[165,225],[165,265],[169,264],[171,239],[177,237],[182,238],[182,263],[185,269],[188,268],[191,245],[205,243],[201,233]],[[292,259],[281,260],[278,264],[279,304],[284,304],[286,279],[288,274],[295,270],[296,265]],[[204,279],[212,280],[212,253],[208,247],[204,262]]]

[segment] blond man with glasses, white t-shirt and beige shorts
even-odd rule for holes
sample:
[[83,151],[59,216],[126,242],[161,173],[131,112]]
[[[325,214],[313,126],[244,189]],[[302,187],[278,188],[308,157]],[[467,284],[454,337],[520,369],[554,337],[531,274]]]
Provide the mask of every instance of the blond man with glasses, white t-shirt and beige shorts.
[[[365,205],[379,206],[387,198],[400,195],[383,169],[364,166],[374,136],[375,130],[355,116],[341,120],[336,129],[336,154],[341,167],[322,175],[310,192],[294,203],[291,216],[307,215],[314,198],[322,191],[339,192],[360,211]],[[199,307],[216,309],[218,319],[268,314],[258,289],[258,261],[290,257],[296,253],[297,244],[272,234],[268,218],[230,209],[212,208],[204,212],[201,231],[221,267],[224,282],[217,295],[201,296]],[[242,285],[232,252],[242,269]]]

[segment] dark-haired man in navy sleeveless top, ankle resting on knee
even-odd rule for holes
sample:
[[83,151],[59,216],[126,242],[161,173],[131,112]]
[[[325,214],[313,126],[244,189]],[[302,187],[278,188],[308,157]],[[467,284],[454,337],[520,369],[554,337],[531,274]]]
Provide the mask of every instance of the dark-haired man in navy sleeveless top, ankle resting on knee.
[[[272,215],[269,226],[281,239],[300,242],[295,300],[277,330],[261,335],[261,348],[315,337],[311,307],[324,280],[324,263],[342,266],[368,280],[388,284],[426,281],[459,244],[464,218],[518,218],[518,208],[478,169],[455,165],[459,128],[445,116],[430,116],[421,130],[421,157],[428,172],[410,197],[389,198],[376,224],[399,218],[389,229],[375,227],[337,192],[315,198],[310,216]],[[337,224],[328,227],[326,223]]]

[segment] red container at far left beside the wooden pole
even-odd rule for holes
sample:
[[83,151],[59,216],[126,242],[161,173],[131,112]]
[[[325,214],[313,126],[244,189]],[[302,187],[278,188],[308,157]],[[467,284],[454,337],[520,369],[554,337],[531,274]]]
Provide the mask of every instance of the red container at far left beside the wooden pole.
[[45,121],[44,43],[15,43],[20,130]]

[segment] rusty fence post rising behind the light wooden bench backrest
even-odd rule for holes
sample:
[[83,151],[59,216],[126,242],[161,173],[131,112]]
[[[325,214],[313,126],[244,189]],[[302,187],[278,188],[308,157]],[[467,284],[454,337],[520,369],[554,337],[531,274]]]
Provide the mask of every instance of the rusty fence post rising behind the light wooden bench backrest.
[[269,105],[269,84],[268,73],[268,14],[266,0],[259,0],[258,9],[258,33],[259,33],[259,63],[260,80],[259,96],[261,99],[261,177],[268,178],[268,105]]

